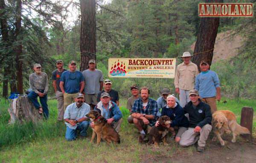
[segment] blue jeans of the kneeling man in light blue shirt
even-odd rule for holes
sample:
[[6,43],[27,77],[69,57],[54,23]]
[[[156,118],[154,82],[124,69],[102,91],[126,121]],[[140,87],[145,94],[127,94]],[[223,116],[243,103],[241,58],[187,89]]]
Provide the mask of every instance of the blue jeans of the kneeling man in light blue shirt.
[[86,136],[87,135],[86,131],[88,129],[89,124],[90,124],[89,121],[82,121],[77,125],[76,129],[70,129],[67,126],[66,135],[65,135],[65,138],[67,139],[67,141],[74,141],[76,139],[78,130],[81,136]]

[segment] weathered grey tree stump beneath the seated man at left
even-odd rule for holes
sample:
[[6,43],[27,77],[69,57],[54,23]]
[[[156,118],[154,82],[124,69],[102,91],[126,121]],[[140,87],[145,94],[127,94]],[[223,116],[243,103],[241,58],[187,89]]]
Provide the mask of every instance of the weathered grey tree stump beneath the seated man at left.
[[18,96],[12,100],[11,107],[8,109],[11,116],[10,124],[14,124],[16,121],[23,123],[24,121],[32,121],[37,123],[43,119],[43,115],[38,113],[28,96]]

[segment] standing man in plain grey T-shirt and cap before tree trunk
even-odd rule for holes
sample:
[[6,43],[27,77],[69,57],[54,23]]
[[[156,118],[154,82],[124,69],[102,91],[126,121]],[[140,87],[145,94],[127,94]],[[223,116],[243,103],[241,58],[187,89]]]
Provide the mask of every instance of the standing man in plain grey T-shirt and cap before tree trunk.
[[89,69],[83,71],[85,80],[84,93],[85,102],[90,105],[91,110],[97,105],[97,96],[103,87],[103,74],[101,70],[95,68],[94,59],[89,61]]

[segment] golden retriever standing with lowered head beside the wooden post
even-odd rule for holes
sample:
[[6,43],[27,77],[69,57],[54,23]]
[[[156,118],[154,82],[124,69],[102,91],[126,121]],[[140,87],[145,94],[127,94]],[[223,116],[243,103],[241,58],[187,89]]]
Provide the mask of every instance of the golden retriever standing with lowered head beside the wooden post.
[[[237,135],[250,134],[247,128],[240,126],[236,122],[236,115],[229,110],[218,110],[212,114],[212,128],[222,146],[225,145],[225,142],[221,138],[224,132],[232,132],[232,143],[236,142]],[[212,141],[216,140],[216,136],[212,138]]]

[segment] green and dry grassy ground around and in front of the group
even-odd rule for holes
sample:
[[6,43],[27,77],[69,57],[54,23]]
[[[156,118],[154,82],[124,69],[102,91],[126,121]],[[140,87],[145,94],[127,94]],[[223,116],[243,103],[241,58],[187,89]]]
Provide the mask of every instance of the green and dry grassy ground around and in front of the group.
[[[99,146],[90,143],[91,129],[86,139],[78,139],[67,142],[64,139],[65,125],[58,123],[57,102],[50,100],[48,121],[35,125],[31,123],[19,125],[7,125],[9,113],[8,103],[0,101],[0,163],[27,163],[27,162],[149,162],[157,161],[161,157],[172,157],[177,155],[192,156],[195,146],[181,148],[169,140],[169,146],[161,146],[154,149],[152,146],[141,145],[137,138],[139,133],[133,125],[127,123],[129,113],[125,109],[125,100],[121,100],[121,110],[124,121],[121,127],[121,144],[108,146],[102,142]],[[227,103],[218,103],[218,109],[229,109],[235,112],[240,122],[241,108],[244,106],[254,107],[256,101],[229,100]],[[256,132],[256,116],[254,114],[253,132]]]

